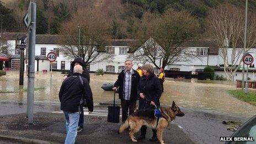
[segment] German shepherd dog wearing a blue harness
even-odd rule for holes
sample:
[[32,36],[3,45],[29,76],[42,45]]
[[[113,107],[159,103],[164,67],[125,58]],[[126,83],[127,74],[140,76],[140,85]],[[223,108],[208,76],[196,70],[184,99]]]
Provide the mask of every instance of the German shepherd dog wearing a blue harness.
[[184,113],[180,111],[179,107],[173,101],[172,107],[166,108],[160,107],[162,117],[157,118],[154,116],[154,109],[141,109],[132,113],[127,120],[119,127],[119,134],[124,132],[130,126],[129,136],[133,142],[137,142],[134,134],[138,132],[143,125],[157,130],[157,138],[160,143],[163,141],[163,129],[168,127],[170,121],[173,121],[176,116],[184,116]]

